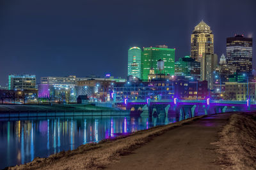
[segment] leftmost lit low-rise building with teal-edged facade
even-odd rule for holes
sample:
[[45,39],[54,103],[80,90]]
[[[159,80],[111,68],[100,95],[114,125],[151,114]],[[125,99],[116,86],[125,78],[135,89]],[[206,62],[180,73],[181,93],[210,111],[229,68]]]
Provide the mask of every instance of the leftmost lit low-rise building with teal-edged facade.
[[35,90],[36,76],[30,74],[9,74],[9,90]]

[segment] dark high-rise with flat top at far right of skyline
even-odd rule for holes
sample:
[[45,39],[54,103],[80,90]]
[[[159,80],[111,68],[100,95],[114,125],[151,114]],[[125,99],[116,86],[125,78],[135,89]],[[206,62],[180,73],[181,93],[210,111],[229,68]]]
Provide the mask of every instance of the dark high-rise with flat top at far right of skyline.
[[252,74],[252,38],[227,38],[227,64],[236,66],[237,73]]

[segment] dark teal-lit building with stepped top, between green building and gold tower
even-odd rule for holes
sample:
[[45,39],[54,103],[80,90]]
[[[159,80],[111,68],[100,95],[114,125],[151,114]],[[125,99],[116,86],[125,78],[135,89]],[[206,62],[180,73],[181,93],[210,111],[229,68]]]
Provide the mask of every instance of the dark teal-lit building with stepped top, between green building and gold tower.
[[200,62],[196,62],[189,56],[180,58],[179,61],[175,62],[175,76],[200,80]]

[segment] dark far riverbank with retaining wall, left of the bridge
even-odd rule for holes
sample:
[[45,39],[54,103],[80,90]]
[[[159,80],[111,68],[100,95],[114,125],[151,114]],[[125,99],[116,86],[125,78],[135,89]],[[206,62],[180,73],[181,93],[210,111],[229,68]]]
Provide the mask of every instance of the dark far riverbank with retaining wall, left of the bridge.
[[117,108],[108,108],[95,106],[93,104],[52,104],[52,105],[36,105],[36,104],[1,104],[0,113],[41,113],[41,112],[81,112],[81,111],[110,111],[118,110]]

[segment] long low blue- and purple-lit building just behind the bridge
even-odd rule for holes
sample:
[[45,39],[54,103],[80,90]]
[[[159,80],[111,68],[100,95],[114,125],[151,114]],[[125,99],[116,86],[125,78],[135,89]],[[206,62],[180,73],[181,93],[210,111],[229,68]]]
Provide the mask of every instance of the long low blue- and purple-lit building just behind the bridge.
[[114,91],[117,101],[162,100],[162,99],[205,99],[208,95],[207,81],[166,81],[116,83]]

